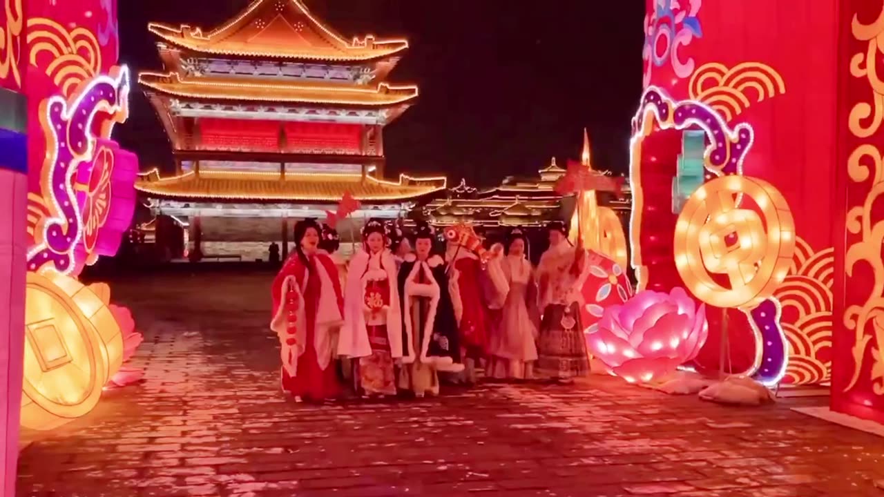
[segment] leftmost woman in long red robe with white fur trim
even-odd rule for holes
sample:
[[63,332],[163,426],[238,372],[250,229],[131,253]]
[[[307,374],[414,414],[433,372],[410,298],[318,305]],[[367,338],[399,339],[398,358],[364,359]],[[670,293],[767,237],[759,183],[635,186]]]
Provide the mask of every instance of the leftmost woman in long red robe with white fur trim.
[[271,330],[279,336],[282,389],[296,401],[324,401],[341,393],[334,351],[342,323],[338,269],[319,249],[320,227],[294,226],[295,251],[273,280]]

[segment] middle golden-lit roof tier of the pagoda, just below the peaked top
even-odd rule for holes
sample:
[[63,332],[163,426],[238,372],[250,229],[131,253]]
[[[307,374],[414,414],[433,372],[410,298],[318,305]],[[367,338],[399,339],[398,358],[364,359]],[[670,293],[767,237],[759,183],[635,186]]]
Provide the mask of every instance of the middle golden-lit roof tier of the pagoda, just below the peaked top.
[[394,87],[379,83],[375,87],[345,86],[324,81],[279,82],[228,77],[182,78],[178,73],[141,73],[138,82],[170,96],[198,100],[246,102],[320,103],[385,107],[414,99],[415,86]]

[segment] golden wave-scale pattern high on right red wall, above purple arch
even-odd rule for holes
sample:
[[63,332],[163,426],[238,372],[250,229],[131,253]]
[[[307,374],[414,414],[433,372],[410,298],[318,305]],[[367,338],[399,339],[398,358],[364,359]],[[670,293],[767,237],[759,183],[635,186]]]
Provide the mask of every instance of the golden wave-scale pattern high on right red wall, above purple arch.
[[691,100],[719,111],[728,122],[752,103],[786,93],[786,83],[773,67],[743,62],[728,68],[717,62],[701,65],[688,83]]

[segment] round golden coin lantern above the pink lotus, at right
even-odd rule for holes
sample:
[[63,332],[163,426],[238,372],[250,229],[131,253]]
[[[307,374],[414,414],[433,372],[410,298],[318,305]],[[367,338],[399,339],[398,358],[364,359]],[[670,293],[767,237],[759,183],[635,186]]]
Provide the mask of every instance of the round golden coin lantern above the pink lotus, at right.
[[786,278],[794,251],[789,204],[758,178],[705,183],[690,195],[675,225],[675,266],[685,287],[720,308],[751,309],[770,297]]

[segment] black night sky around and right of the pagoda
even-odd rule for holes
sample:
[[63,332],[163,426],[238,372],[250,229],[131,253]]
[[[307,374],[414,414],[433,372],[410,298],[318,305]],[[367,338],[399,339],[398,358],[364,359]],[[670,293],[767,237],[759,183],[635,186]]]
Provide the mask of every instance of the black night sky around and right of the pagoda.
[[[248,0],[119,3],[120,60],[161,68],[149,20],[216,27]],[[421,95],[385,128],[387,175],[445,172],[477,186],[577,157],[589,128],[593,164],[625,172],[629,119],[642,84],[644,2],[617,0],[307,0],[349,38],[405,35],[390,80]],[[142,168],[171,166],[170,145],[141,91],[118,139]]]

